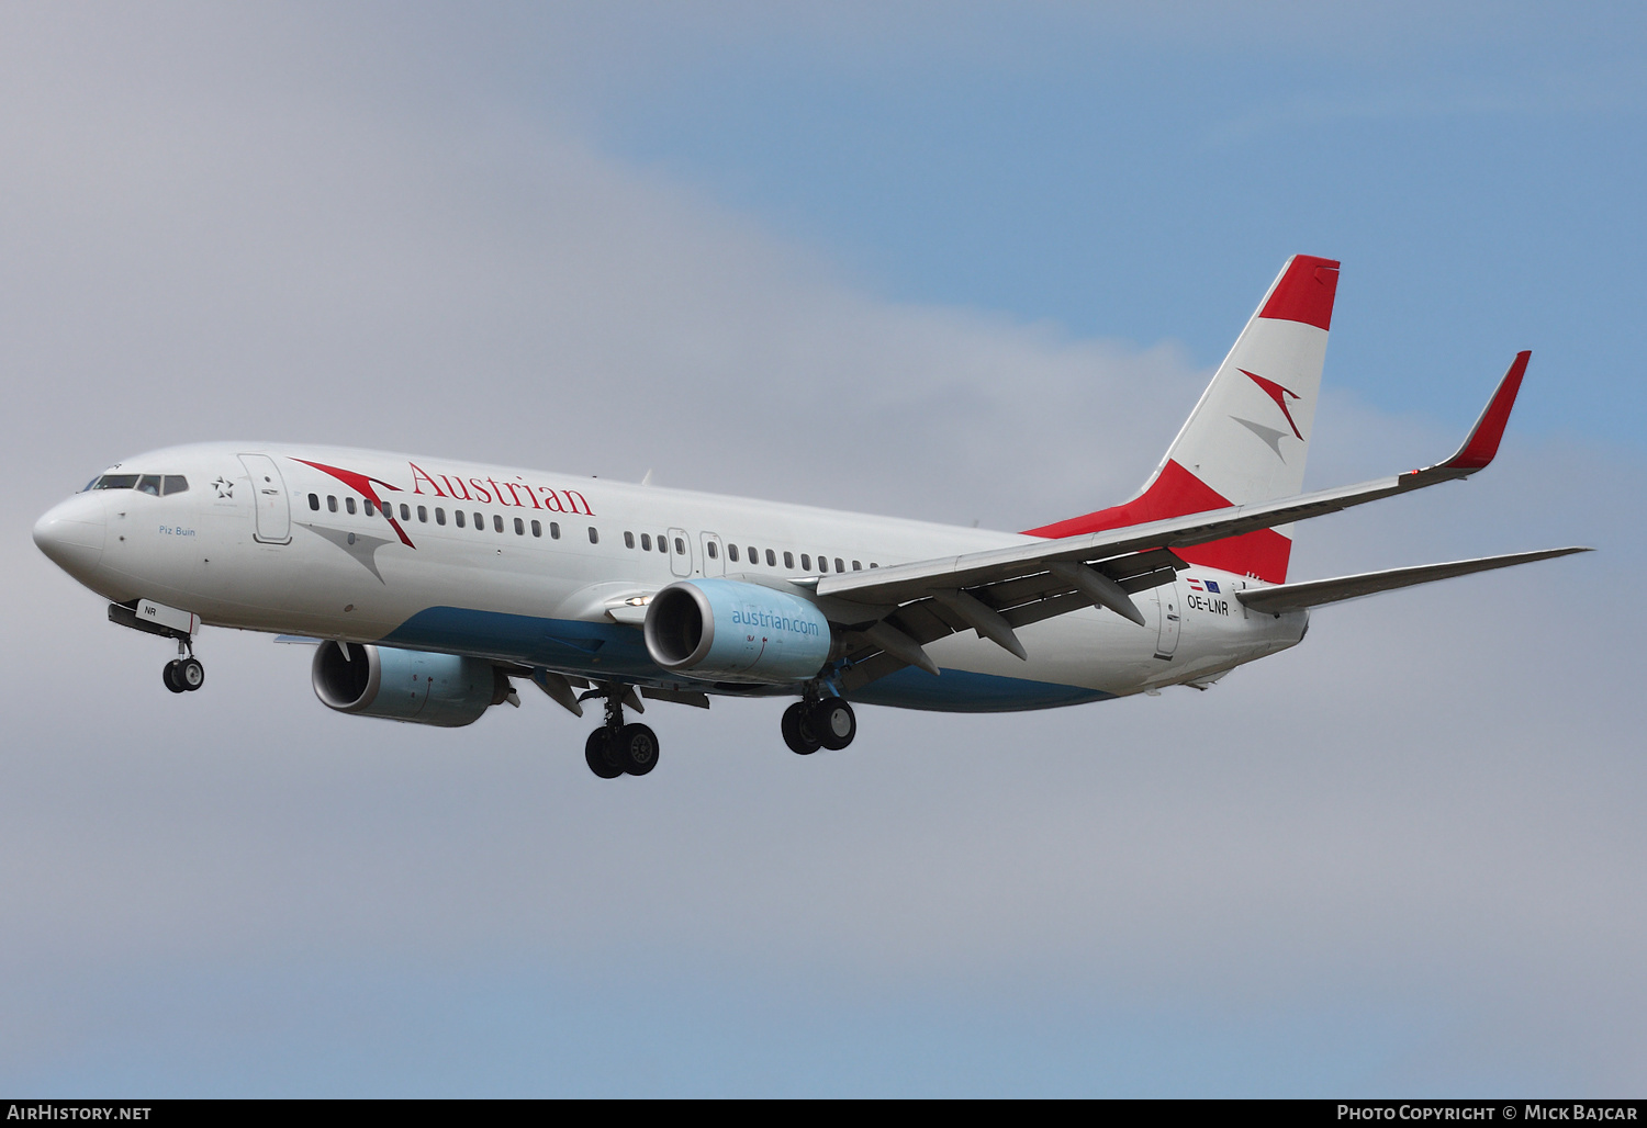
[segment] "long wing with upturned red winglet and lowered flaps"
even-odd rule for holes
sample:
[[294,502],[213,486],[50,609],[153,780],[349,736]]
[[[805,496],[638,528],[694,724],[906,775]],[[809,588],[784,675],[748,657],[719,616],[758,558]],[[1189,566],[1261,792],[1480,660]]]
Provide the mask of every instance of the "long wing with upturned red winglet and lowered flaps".
[[1021,659],[1024,649],[1015,627],[1077,608],[1105,606],[1141,624],[1143,614],[1131,596],[1166,583],[1176,570],[1187,566],[1174,555],[1174,548],[1308,520],[1469,478],[1497,454],[1528,356],[1517,354],[1469,438],[1451,458],[1435,466],[1359,486],[1230,506],[1145,525],[820,576],[815,585],[817,603],[832,622],[847,629],[842,688],[866,685],[904,665],[937,674],[937,665],[922,647],[959,631],[977,631]]

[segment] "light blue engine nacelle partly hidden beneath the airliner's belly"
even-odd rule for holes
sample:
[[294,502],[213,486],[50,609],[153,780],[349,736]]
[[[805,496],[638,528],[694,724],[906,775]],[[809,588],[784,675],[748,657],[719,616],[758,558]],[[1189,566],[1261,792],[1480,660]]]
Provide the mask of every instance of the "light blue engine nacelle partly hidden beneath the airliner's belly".
[[483,659],[359,642],[321,642],[315,697],[339,713],[458,728],[504,700],[509,678]]

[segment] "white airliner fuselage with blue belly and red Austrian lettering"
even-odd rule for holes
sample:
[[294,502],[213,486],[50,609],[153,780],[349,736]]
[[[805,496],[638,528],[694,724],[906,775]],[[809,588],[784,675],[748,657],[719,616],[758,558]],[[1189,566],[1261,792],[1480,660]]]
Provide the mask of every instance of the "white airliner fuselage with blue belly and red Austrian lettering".
[[[805,585],[1034,537],[333,446],[211,443],[130,458],[38,522],[40,547],[114,603],[206,624],[374,642],[659,688],[644,601],[684,578]],[[1295,646],[1306,613],[1250,614],[1257,581],[1194,566],[1138,598],[1019,631],[1028,660],[955,634],[866,703],[995,711],[1206,683]],[[712,692],[726,692],[725,687]],[[744,687],[797,693],[797,687]]]

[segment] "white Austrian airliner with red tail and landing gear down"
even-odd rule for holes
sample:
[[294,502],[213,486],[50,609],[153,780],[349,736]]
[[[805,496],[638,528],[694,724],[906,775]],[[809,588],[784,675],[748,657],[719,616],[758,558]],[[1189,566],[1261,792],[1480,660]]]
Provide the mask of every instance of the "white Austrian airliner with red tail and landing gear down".
[[840,749],[848,702],[1003,711],[1207,688],[1296,646],[1309,608],[1561,557],[1550,548],[1286,581],[1293,522],[1467,478],[1492,461],[1515,357],[1464,445],[1395,478],[1299,494],[1339,263],[1295,255],[1131,501],[1021,534],[619,484],[446,458],[264,443],[110,466],[35,543],[175,639],[201,624],[318,642],[329,708],[458,726],[527,678],[611,779],[657,762],[641,698],[799,698],[796,753]]

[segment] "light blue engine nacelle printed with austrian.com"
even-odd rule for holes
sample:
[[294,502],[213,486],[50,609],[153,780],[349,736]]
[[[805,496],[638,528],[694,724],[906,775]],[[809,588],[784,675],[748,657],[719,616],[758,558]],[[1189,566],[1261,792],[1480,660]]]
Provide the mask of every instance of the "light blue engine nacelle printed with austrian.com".
[[828,619],[805,599],[738,580],[682,580],[646,609],[665,670],[716,682],[805,682],[828,660]]

